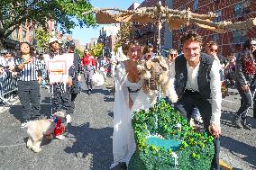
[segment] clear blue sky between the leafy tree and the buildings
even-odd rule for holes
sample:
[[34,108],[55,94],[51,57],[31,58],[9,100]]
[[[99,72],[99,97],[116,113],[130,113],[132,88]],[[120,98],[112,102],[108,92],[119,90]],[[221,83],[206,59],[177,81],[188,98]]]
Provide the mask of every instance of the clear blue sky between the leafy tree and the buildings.
[[[121,9],[127,9],[133,2],[142,3],[142,0],[90,0],[90,3],[95,7],[118,7]],[[75,28],[72,31],[73,39],[80,40],[80,44],[85,45],[91,40],[91,38],[97,38],[99,36],[99,30],[102,25],[97,28]]]

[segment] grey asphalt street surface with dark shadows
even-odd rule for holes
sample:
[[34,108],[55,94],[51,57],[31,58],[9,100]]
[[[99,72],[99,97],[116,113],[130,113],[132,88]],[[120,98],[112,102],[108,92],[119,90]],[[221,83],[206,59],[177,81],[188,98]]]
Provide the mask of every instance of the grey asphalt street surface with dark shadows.
[[[41,89],[42,113],[50,114],[49,103],[48,90]],[[234,170],[252,170],[256,169],[256,120],[250,120],[251,131],[233,128],[233,113],[238,110],[239,103],[237,92],[230,90],[230,96],[223,101],[220,158]],[[53,139],[50,143],[44,140],[40,153],[33,153],[25,146],[28,136],[26,129],[20,128],[20,103],[1,112],[0,169],[109,169],[113,160],[113,107],[110,88],[97,88],[91,95],[83,91],[78,95],[67,138]]]

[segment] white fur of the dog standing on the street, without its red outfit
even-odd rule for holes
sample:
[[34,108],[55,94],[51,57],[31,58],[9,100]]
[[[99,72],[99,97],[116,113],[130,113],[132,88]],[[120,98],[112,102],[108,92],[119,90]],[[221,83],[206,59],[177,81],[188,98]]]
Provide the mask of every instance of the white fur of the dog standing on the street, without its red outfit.
[[[54,118],[65,118],[64,112],[55,112],[52,115],[52,119],[39,120],[39,121],[29,121],[27,124],[27,133],[29,135],[29,139],[27,141],[27,147],[31,148],[34,152],[40,152],[41,141],[43,139],[43,135],[51,135],[53,130],[55,129]],[[63,135],[59,135],[58,139],[64,139]]]

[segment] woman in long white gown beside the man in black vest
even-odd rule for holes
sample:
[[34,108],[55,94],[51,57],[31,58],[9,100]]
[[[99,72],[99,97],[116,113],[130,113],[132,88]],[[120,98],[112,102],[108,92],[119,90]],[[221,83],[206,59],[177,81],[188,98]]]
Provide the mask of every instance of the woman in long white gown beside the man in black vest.
[[[126,53],[127,51],[127,53]],[[142,46],[130,42],[123,48],[128,59],[116,68],[114,94],[114,134],[113,155],[115,166],[128,166],[136,149],[133,136],[133,112],[150,107],[150,100],[144,93],[143,80],[137,70],[137,62],[142,56]]]

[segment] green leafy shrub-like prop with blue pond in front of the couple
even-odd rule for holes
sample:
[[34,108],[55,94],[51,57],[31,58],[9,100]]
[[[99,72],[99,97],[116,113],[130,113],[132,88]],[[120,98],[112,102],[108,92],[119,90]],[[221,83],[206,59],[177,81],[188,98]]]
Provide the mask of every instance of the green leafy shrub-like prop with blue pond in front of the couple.
[[134,112],[133,130],[137,148],[129,170],[208,170],[211,167],[214,138],[191,128],[187,119],[163,100],[147,111]]

